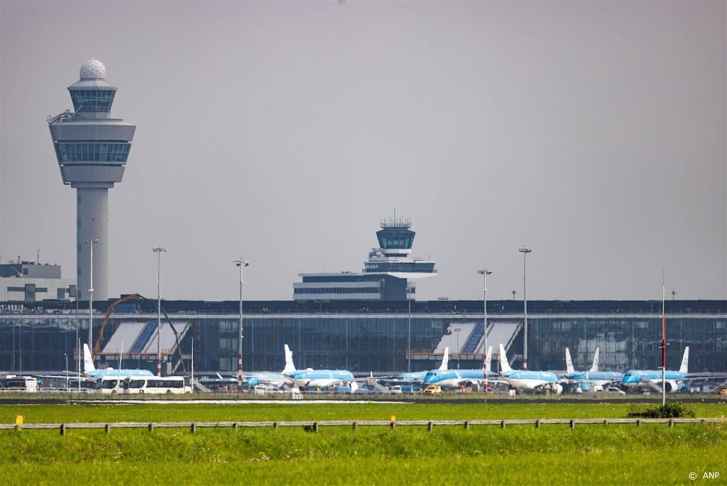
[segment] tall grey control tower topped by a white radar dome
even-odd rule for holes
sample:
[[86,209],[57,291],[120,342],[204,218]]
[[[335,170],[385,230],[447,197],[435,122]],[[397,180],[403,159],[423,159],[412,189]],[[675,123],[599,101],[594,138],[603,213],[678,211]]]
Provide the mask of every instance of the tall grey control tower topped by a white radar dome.
[[[48,126],[64,184],[76,189],[76,282],[79,299],[108,299],[108,190],[124,177],[136,126],[111,118],[116,87],[99,60],[81,65],[71,84],[73,113],[49,116]],[[92,240],[95,243],[88,244]],[[93,248],[92,248],[93,247]],[[93,252],[93,263],[91,255]]]

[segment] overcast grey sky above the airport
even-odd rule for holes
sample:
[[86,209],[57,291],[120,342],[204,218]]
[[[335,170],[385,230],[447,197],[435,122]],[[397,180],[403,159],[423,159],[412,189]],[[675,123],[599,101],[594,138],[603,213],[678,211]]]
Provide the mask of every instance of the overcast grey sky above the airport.
[[0,248],[75,278],[46,116],[89,57],[137,125],[110,295],[289,300],[361,271],[379,218],[419,300],[727,298],[727,7],[649,2],[0,1]]

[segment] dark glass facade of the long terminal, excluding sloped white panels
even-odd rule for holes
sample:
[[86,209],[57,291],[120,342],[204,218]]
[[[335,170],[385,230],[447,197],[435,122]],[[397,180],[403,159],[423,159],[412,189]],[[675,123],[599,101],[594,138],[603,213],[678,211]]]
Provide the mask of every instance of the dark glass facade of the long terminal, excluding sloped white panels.
[[[411,313],[411,352],[432,354],[443,333],[453,322],[452,311],[431,311],[417,303]],[[247,305],[247,304],[246,304]],[[363,305],[366,305],[364,303]],[[457,319],[476,322],[481,314],[473,302],[471,310],[457,311]],[[479,303],[481,306],[481,303]],[[321,304],[321,306],[323,306]],[[530,307],[530,304],[529,304]],[[235,373],[237,369],[238,322],[236,311],[169,311],[174,322],[189,322],[190,330],[182,339],[181,354],[185,368],[190,367],[190,347],[194,338],[195,369]],[[85,342],[87,314],[75,316],[68,311],[37,311],[11,314],[0,311],[0,370],[65,370],[74,365],[76,333]],[[522,313],[498,314],[488,311],[491,321],[521,319]],[[601,369],[624,371],[633,368],[658,369],[661,364],[662,319],[656,312],[606,314],[593,312],[528,313],[529,367],[531,370],[565,369],[564,351],[570,348],[574,365],[585,370],[600,348]],[[95,317],[97,336],[103,314]],[[106,326],[108,336],[122,321],[153,321],[152,309],[142,314],[114,313]],[[360,308],[358,311],[276,311],[259,308],[244,313],[244,370],[279,371],[284,366],[284,344],[294,352],[298,368],[346,369],[353,373],[398,373],[406,370],[409,314],[406,306],[396,310]],[[727,311],[667,313],[667,368],[678,369],[685,346],[690,347],[690,372],[727,371]],[[462,346],[467,339],[462,336]],[[499,343],[489,343],[497,348]],[[132,343],[129,343],[129,347]],[[450,350],[452,353],[452,350]],[[511,364],[521,366],[522,334],[508,352]],[[180,353],[172,362],[180,360]],[[66,365],[66,359],[68,365]],[[154,370],[153,359],[124,358],[124,367]],[[437,367],[439,356],[431,360],[412,359],[412,370]],[[497,360],[493,362],[493,369]],[[456,366],[457,359],[451,361]],[[111,362],[114,366],[116,363]],[[462,368],[481,366],[480,359],[462,361]],[[176,373],[182,368],[177,367]]]

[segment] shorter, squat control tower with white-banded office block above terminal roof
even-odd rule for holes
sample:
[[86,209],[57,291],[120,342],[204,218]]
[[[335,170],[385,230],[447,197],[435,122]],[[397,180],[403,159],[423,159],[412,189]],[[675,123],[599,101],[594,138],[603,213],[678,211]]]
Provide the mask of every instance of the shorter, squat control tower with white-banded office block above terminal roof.
[[299,274],[294,300],[415,300],[416,280],[435,276],[435,262],[411,256],[416,233],[408,219],[381,221],[379,247],[372,248],[361,273]]

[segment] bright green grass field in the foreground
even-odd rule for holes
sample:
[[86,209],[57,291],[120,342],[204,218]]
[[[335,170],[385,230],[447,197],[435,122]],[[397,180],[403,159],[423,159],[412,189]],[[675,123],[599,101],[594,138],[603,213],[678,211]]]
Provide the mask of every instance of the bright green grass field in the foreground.
[[[697,417],[727,404],[690,404]],[[0,405],[0,421],[623,418],[624,403]],[[727,480],[724,424],[0,431],[3,484],[685,484]]]

